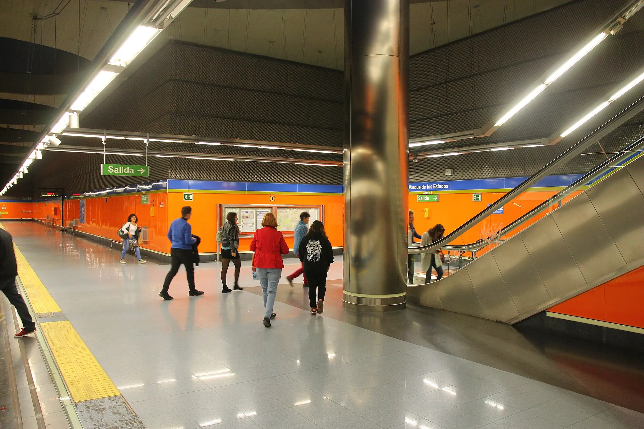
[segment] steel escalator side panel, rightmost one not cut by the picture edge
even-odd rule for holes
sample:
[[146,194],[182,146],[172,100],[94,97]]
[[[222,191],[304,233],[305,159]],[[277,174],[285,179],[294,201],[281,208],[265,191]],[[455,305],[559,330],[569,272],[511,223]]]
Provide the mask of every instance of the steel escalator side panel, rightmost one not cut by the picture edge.
[[587,283],[626,264],[586,193],[552,216]]

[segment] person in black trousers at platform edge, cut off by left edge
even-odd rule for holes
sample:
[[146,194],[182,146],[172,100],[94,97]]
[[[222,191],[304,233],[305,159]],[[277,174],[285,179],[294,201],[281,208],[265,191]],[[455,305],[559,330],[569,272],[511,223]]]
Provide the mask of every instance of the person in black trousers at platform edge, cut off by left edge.
[[36,331],[29,309],[23,297],[15,286],[15,276],[18,275],[18,265],[15,262],[14,241],[11,234],[0,228],[0,289],[12,306],[15,307],[23,322],[23,329],[15,337],[25,336]]

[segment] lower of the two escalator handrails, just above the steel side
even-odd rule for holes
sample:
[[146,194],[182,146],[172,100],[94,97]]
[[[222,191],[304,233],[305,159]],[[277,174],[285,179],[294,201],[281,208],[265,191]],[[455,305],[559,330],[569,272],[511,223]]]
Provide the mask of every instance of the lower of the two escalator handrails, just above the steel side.
[[[498,236],[502,237],[502,236],[506,235],[507,233],[515,230],[516,228],[518,228],[518,226],[526,223],[527,221],[529,221],[530,219],[532,219],[536,215],[538,215],[541,212],[543,212],[549,206],[553,205],[553,203],[561,201],[565,197],[569,196],[572,192],[577,190],[580,186],[583,186],[583,183],[590,183],[591,181],[594,181],[599,176],[605,174],[605,171],[604,171],[605,169],[607,169],[609,167],[612,168],[612,164],[619,164],[618,167],[621,168],[622,167],[621,163],[623,163],[624,161],[627,161],[629,156],[632,156],[632,154],[630,154],[629,152],[633,151],[634,149],[638,149],[638,148],[640,148],[638,150],[641,151],[641,148],[643,147],[643,145],[644,145],[644,136],[638,138],[638,140],[634,141],[633,143],[631,143],[630,145],[628,145],[624,149],[621,149],[619,154],[613,156],[609,160],[603,161],[603,163],[601,163],[600,165],[597,165],[596,167],[594,167],[594,169],[592,169],[589,172],[587,172],[584,176],[582,176],[581,178],[579,178],[576,181],[574,181],[573,183],[571,183],[571,185],[568,185],[564,189],[560,190],[560,192],[558,192],[557,194],[553,195],[549,199],[545,200],[543,203],[541,203],[540,205],[536,206],[535,208],[533,208],[532,210],[530,210],[526,214],[518,217],[515,221],[512,221],[511,223],[507,224],[507,226],[504,226],[504,228],[502,228],[500,230]],[[630,161],[630,160],[628,160],[628,161]],[[611,170],[608,174],[611,174],[612,172],[614,172],[616,170],[617,170],[616,168],[613,168],[613,170]],[[472,242],[472,243],[469,243],[469,244],[448,244],[446,246],[443,246],[442,249],[444,249],[444,250],[459,250],[459,251],[477,251],[477,250],[481,250],[482,248],[488,246],[489,238],[491,238],[491,237],[488,237],[488,240],[479,239],[479,240],[477,240],[475,242]]]

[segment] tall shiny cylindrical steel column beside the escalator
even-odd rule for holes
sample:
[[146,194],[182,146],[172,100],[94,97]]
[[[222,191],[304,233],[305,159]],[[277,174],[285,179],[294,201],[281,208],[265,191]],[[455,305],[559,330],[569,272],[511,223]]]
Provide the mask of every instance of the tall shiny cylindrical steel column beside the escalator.
[[344,305],[406,304],[409,0],[345,1]]

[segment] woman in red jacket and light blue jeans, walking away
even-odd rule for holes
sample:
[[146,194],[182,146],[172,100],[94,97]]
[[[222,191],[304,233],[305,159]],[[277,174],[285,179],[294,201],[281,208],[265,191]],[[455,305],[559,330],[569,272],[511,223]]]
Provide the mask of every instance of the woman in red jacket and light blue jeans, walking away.
[[270,319],[275,318],[273,305],[275,304],[275,292],[278,289],[281,269],[284,262],[281,255],[289,253],[284,236],[277,230],[278,221],[275,215],[268,212],[261,221],[263,228],[255,232],[252,237],[251,251],[255,254],[252,257],[252,266],[260,278],[261,291],[264,297],[264,326],[270,327]]

